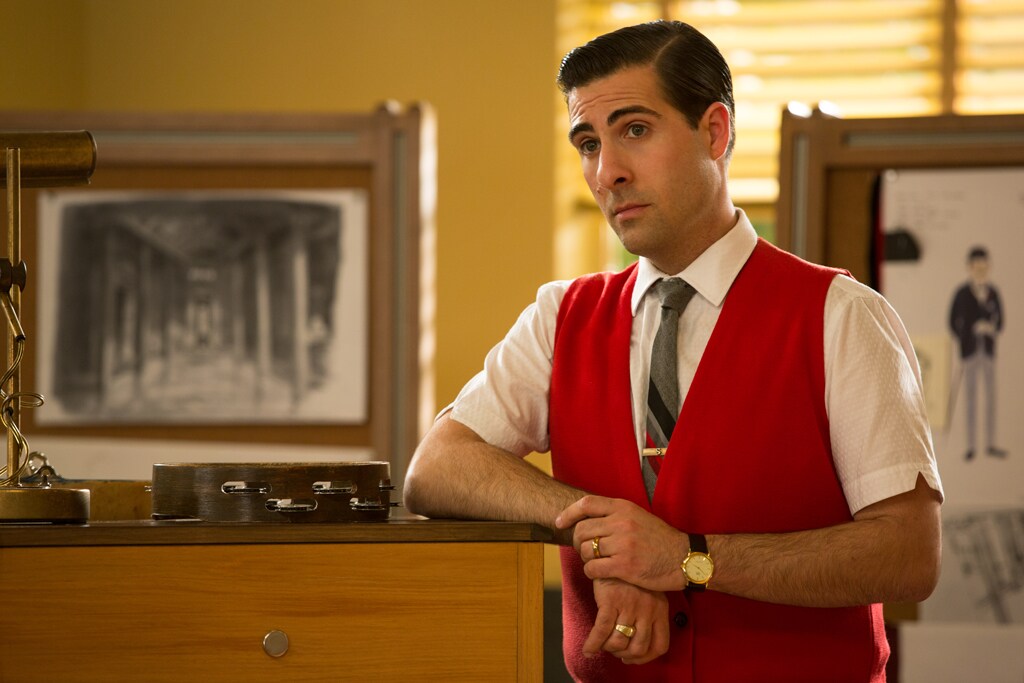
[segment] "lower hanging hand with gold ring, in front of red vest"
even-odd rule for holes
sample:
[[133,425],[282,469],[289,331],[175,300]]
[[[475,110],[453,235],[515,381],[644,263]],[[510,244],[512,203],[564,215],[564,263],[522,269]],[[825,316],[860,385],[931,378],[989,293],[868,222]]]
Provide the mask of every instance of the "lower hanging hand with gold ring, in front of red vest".
[[[583,645],[585,656],[604,650],[625,664],[647,664],[669,651],[669,600],[664,593],[598,579],[594,599],[597,618]],[[633,637],[615,631],[618,624],[636,629]]]

